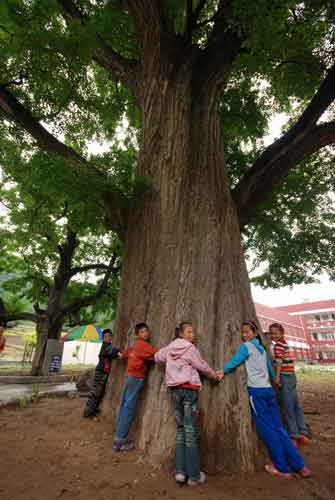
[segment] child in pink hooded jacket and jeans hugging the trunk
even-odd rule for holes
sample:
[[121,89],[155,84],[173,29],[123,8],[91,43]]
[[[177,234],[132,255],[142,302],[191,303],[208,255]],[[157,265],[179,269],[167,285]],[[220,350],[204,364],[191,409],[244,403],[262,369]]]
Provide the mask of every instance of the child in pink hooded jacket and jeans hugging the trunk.
[[183,322],[176,329],[176,338],[155,354],[155,361],[166,363],[165,380],[169,388],[177,423],[176,481],[190,486],[204,483],[200,471],[198,394],[201,380],[198,372],[219,380],[220,375],[204,361],[194,346],[193,327]]

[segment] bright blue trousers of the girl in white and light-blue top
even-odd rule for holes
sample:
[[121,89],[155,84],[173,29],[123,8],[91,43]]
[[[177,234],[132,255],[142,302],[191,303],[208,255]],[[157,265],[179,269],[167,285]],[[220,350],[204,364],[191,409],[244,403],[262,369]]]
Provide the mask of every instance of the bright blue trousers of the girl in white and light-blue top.
[[283,427],[275,391],[272,387],[248,387],[248,392],[257,433],[267,447],[273,465],[280,472],[302,469],[304,461]]

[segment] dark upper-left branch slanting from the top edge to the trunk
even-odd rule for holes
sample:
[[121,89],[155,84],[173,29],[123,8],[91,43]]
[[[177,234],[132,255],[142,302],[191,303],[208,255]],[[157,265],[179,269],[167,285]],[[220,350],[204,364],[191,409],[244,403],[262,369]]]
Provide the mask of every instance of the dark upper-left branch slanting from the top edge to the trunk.
[[[87,16],[80,11],[72,0],[58,0],[58,3],[68,22],[79,22],[83,26],[87,24]],[[93,53],[94,60],[107,71],[113,73],[116,78],[121,80],[136,94],[137,61],[121,56],[98,33],[96,34],[96,40],[98,48]]]

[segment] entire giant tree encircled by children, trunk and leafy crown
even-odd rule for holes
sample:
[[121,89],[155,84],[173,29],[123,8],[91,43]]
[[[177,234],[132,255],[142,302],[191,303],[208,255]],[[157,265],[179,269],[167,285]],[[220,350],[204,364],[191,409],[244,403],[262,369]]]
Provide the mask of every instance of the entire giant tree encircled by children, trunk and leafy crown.
[[[33,154],[45,182],[104,210],[124,248],[121,347],[136,321],[162,346],[187,319],[221,368],[240,322],[255,319],[245,253],[268,262],[263,284],[333,268],[333,2],[4,0],[0,9],[0,160],[15,171]],[[266,145],[276,112],[290,119]],[[92,154],[94,141],[106,149]],[[150,375],[136,433],[155,461],[174,441],[162,381],[158,369]],[[116,369],[111,400],[121,386]],[[254,469],[244,370],[206,386],[201,404],[207,466]]]

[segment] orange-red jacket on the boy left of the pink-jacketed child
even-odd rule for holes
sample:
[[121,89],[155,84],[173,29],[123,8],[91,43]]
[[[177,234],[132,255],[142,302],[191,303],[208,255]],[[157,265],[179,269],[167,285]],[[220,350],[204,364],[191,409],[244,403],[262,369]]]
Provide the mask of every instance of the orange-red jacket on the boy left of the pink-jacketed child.
[[122,358],[128,358],[127,375],[129,377],[145,378],[148,371],[148,361],[153,361],[155,353],[149,342],[136,339],[135,344],[122,353]]

